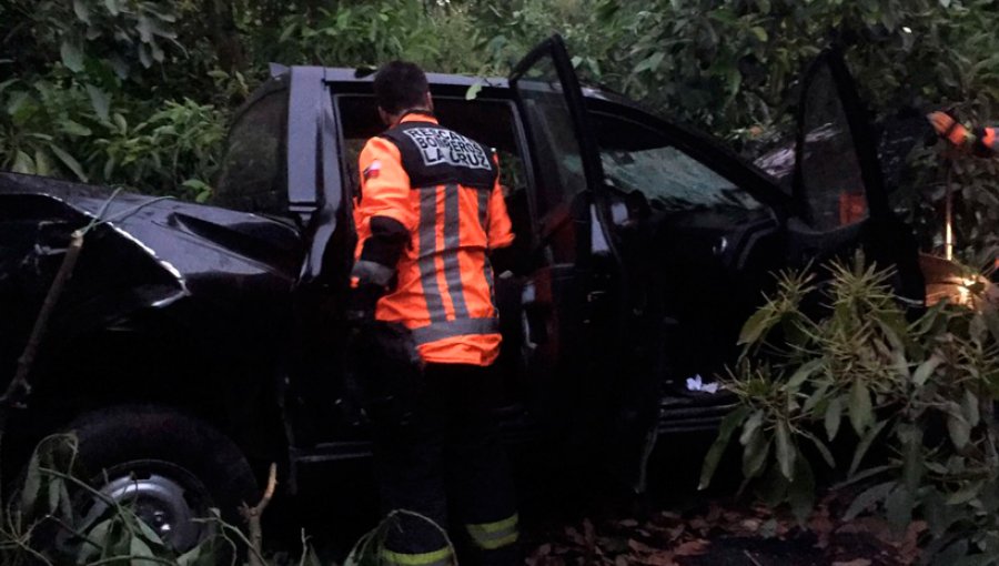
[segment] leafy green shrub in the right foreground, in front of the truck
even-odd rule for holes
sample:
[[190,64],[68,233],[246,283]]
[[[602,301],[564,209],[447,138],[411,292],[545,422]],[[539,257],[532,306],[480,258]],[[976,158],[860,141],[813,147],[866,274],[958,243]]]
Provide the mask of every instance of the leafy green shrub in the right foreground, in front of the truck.
[[[746,484],[803,520],[813,465],[825,462],[842,486],[864,486],[847,519],[874,508],[904,528],[918,515],[934,536],[930,554],[963,540],[969,553],[999,558],[999,313],[988,302],[941,302],[908,322],[890,271],[858,259],[828,272],[823,285],[783,275],[744,326],[744,355],[726,380],[739,410],[712,447],[702,487],[740,431]],[[815,294],[828,305],[818,319],[805,306]]]

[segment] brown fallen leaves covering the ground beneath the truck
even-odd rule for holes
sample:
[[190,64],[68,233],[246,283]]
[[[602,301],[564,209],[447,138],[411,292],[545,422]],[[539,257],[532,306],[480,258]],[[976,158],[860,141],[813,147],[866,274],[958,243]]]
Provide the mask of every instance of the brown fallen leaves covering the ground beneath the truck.
[[915,522],[904,533],[875,517],[844,523],[829,511],[830,502],[819,503],[800,525],[783,511],[718,502],[685,515],[608,513],[536,534],[544,543],[534,547],[526,564],[897,566],[919,559],[925,523]]

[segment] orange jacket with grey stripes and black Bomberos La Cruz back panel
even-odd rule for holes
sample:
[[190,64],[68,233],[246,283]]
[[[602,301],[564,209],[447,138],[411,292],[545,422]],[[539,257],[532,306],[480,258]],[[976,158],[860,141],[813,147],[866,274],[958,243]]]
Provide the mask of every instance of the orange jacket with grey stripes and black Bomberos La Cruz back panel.
[[[352,282],[392,287],[375,317],[408,327],[426,362],[492,364],[501,336],[486,252],[514,239],[495,154],[414,112],[367,141],[360,171]],[[372,229],[385,225],[404,230],[401,254],[375,250]]]

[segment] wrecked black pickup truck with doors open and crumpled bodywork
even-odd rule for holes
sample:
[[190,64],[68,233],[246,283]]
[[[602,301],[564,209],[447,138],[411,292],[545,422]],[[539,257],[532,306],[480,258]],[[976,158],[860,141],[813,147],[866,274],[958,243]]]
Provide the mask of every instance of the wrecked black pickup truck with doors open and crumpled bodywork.
[[[508,80],[428,80],[442,124],[501,156],[518,257],[496,281],[511,442],[599,454],[637,481],[656,443],[729,411],[712,376],[773,271],[864,249],[921,300],[915,241],[834,51],[804,81],[789,195],[718,141],[582,89],[558,37]],[[21,459],[4,463],[74,429],[99,487],[138,498],[186,548],[205,528],[189,519],[255,501],[268,463],[304,493],[304,469],[366,458],[343,306],[375,108],[371,77],[273,65],[235,115],[213,205],[0,173],[7,378],[70,233],[107,220],[87,235],[9,425],[4,449]]]

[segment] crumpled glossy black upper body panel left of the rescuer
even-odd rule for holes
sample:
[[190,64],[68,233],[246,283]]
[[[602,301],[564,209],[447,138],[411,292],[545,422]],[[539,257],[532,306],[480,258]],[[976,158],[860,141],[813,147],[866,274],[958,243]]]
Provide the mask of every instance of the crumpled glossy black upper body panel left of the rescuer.
[[[112,195],[107,188],[0,173],[0,222],[33,222],[43,234],[47,225],[61,223],[71,231],[103,221],[84,242],[84,252],[103,269],[93,276],[105,277],[101,273],[115,260],[114,271],[154,265],[160,296],[148,297],[153,306],[213,293],[221,300],[273,296],[289,293],[295,283],[303,244],[291,222],[133,193]],[[38,239],[36,250],[42,247]]]

